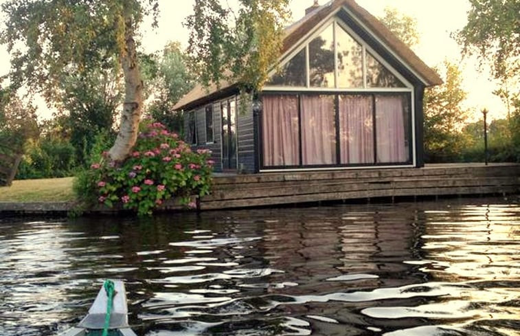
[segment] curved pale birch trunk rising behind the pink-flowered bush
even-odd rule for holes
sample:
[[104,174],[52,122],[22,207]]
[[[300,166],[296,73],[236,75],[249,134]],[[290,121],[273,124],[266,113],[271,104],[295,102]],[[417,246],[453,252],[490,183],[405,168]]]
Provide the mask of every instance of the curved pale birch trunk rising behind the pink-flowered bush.
[[117,162],[124,161],[135,145],[143,106],[143,82],[139,72],[131,15],[126,16],[124,25],[125,51],[122,55],[122,67],[125,98],[119,133],[109,150],[111,159]]

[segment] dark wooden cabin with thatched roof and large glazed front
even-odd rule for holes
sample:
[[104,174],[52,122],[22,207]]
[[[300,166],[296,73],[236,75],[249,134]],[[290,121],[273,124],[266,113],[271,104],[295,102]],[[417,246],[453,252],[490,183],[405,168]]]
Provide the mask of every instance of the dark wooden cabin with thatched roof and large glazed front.
[[186,141],[216,171],[284,172],[424,165],[422,98],[442,80],[354,0],[315,5],[284,32],[278,65],[239,111],[237,83],[194,88]]

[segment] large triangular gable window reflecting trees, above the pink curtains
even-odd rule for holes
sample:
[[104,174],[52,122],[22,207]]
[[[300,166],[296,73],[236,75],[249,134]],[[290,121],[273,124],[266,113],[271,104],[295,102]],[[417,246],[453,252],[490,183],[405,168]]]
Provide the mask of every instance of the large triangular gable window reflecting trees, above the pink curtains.
[[338,21],[321,30],[297,54],[282,63],[268,87],[337,89],[406,87]]

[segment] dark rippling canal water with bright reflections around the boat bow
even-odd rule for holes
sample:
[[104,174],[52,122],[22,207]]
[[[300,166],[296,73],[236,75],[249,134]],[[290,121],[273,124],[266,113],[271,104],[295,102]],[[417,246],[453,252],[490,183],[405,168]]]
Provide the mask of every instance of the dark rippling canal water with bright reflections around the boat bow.
[[520,205],[455,199],[153,219],[0,219],[0,335],[126,282],[139,336],[520,335]]

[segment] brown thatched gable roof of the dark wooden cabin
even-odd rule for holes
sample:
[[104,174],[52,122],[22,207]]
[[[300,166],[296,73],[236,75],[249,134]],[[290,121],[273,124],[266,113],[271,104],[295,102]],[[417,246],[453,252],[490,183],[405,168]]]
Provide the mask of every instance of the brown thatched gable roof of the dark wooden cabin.
[[[385,52],[391,54],[398,63],[409,70],[422,85],[429,87],[442,84],[442,79],[436,71],[426,65],[403,41],[400,41],[381,21],[362,8],[354,0],[332,0],[325,5],[311,10],[299,21],[285,29],[284,43],[279,61],[286,58],[302,41],[306,40],[322,23],[332,16],[338,16],[343,21],[352,20],[361,27],[368,38],[374,39]],[[344,19],[346,18],[346,19]],[[238,84],[222,80],[219,85],[210,87],[196,85],[175,105],[174,110],[190,109],[205,102],[222,98],[226,94],[236,93]]]

